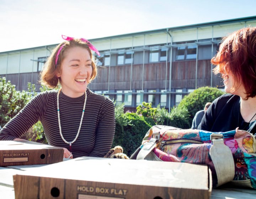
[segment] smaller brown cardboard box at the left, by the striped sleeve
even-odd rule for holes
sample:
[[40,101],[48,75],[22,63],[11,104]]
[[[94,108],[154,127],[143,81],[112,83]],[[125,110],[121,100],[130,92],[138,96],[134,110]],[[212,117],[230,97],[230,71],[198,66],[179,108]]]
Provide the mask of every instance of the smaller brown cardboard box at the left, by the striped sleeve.
[[0,141],[0,166],[52,164],[63,161],[64,150],[31,141]]

